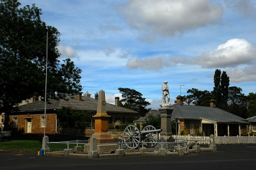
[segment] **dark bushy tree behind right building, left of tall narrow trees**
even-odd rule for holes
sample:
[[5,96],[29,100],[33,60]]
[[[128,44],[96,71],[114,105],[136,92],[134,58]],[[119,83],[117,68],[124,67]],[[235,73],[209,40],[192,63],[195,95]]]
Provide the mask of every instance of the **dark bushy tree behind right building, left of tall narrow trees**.
[[187,105],[202,105],[209,106],[209,102],[212,98],[211,92],[204,90],[200,91],[198,89],[192,88],[188,89],[187,93],[191,93],[191,95],[187,95],[184,97],[184,103]]

